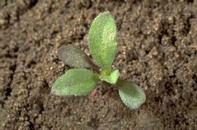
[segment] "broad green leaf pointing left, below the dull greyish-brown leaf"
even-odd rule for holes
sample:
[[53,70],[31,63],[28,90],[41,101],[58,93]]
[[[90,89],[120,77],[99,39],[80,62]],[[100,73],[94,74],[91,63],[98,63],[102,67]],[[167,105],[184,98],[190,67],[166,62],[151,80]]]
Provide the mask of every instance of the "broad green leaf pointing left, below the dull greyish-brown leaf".
[[87,69],[70,69],[55,81],[51,93],[58,96],[87,95],[97,80]]

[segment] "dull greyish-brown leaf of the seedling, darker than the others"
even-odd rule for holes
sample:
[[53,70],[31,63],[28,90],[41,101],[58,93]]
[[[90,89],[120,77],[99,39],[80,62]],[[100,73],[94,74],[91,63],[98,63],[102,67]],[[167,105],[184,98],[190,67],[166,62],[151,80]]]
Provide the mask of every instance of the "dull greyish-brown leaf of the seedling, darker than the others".
[[59,48],[58,58],[66,65],[76,68],[90,68],[87,55],[72,45],[63,45]]

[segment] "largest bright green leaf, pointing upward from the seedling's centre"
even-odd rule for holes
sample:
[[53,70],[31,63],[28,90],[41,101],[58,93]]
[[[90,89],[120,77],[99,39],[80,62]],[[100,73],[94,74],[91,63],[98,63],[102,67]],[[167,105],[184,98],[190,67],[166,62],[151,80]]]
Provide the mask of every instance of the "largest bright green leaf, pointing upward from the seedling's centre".
[[109,12],[99,14],[91,24],[89,48],[96,63],[103,69],[111,71],[116,54],[116,25]]

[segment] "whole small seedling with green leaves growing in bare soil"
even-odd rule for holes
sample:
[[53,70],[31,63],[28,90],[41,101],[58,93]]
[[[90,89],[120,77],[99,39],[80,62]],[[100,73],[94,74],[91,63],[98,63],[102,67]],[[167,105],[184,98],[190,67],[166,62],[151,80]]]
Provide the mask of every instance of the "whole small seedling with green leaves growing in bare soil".
[[87,95],[101,80],[118,88],[122,102],[130,109],[141,106],[146,100],[143,89],[132,81],[120,80],[119,70],[112,69],[117,51],[116,32],[114,18],[109,12],[99,14],[92,22],[88,42],[98,66],[79,48],[72,45],[60,47],[59,59],[75,68],[66,71],[55,81],[51,93],[58,96]]

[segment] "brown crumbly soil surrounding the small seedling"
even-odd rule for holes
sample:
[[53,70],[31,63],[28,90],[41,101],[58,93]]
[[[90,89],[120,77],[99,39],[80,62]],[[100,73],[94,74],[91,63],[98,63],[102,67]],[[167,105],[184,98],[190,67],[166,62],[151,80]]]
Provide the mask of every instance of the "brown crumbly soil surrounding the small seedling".
[[[138,110],[103,83],[95,97],[50,94],[69,69],[58,47],[88,53],[105,10],[118,27],[114,67],[147,95]],[[197,1],[1,0],[0,119],[0,130],[197,130]]]

